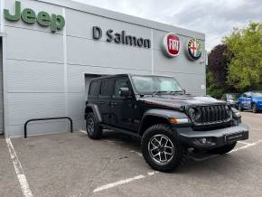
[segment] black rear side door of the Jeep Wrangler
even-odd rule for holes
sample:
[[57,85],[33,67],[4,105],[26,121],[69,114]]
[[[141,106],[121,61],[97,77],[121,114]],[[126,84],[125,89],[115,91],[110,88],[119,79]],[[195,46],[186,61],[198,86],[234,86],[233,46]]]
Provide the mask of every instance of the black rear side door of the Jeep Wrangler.
[[98,108],[104,124],[111,125],[110,102],[113,94],[113,79],[101,80]]

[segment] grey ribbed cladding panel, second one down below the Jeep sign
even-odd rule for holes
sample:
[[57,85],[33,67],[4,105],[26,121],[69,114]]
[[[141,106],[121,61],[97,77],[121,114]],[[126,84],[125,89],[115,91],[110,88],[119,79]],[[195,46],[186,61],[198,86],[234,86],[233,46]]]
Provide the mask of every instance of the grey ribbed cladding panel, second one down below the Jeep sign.
[[8,92],[63,92],[63,64],[7,61]]

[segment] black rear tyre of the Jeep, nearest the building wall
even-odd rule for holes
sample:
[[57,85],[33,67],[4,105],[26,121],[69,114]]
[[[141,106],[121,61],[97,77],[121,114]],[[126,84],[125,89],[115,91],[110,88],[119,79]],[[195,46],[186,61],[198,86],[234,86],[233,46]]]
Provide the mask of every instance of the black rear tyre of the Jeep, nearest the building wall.
[[[93,122],[93,129],[90,129],[90,124]],[[87,133],[91,139],[100,139],[102,137],[103,128],[98,125],[98,121],[94,113],[90,112],[86,121]]]

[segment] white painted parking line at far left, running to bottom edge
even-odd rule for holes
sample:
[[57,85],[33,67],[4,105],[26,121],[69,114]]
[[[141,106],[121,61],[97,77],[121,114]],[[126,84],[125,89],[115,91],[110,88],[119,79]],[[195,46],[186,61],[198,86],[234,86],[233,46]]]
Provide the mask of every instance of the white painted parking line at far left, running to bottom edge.
[[17,176],[17,179],[20,183],[20,187],[21,190],[23,192],[23,196],[24,197],[33,197],[33,193],[31,192],[29,185],[26,181],[26,177],[23,174],[23,168],[22,168],[22,164],[20,163],[15,151],[14,151],[14,146],[10,140],[10,138],[5,138],[9,153],[10,153],[10,157],[11,160],[14,164],[14,170]]

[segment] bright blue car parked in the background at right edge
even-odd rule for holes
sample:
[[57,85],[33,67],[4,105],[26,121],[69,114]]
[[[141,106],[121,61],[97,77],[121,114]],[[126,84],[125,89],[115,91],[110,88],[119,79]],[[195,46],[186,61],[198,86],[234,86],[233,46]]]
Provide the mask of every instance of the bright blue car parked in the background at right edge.
[[254,113],[262,110],[262,92],[248,91],[239,97],[239,111],[250,108]]

